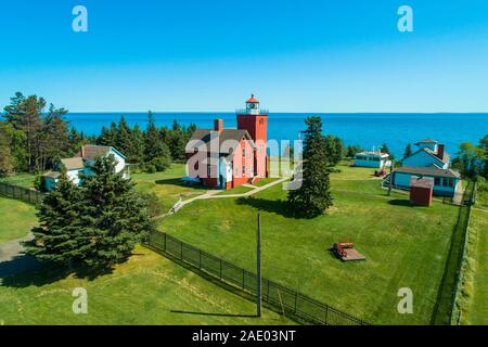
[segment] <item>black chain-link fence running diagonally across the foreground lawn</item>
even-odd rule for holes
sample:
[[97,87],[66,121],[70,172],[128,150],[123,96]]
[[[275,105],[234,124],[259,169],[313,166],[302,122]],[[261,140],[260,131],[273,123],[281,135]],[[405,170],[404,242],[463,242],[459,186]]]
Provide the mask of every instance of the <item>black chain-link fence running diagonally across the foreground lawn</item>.
[[[185,244],[164,232],[151,232],[146,244],[156,250],[203,270],[220,281],[256,295],[257,275],[253,272]],[[368,322],[359,318],[267,279],[261,280],[261,296],[265,303],[275,307],[278,310],[291,312],[295,317],[314,324],[369,325]]]

